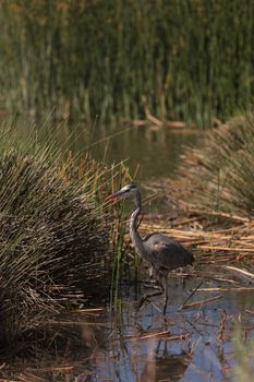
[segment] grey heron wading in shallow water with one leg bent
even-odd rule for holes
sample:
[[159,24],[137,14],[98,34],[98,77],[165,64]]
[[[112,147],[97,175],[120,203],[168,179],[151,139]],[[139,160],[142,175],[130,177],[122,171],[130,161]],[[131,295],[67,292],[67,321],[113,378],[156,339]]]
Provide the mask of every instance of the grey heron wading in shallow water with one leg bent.
[[167,276],[172,270],[192,264],[194,261],[193,254],[188,251],[180,242],[169,238],[161,234],[149,234],[143,239],[141,238],[136,222],[142,211],[141,192],[134,183],[124,186],[118,192],[112,193],[110,199],[125,199],[133,198],[135,203],[135,210],[133,211],[130,219],[130,236],[135,247],[136,252],[148,262],[159,283],[159,290],[145,295],[138,307],[150,297],[159,296],[166,293],[166,303],[164,308],[164,314],[166,313],[168,305],[168,288],[167,288]]

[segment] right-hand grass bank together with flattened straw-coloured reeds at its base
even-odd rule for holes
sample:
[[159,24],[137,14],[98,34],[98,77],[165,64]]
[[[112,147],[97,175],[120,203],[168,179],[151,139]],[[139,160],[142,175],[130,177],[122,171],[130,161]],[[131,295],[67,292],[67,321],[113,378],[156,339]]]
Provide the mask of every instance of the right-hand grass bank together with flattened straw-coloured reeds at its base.
[[[253,163],[254,112],[250,111],[206,132],[196,148],[185,151],[176,178],[161,180],[160,186],[169,206],[178,208],[177,217],[169,219],[167,213],[167,219],[143,223],[141,228],[182,240],[195,249],[196,259],[201,254],[199,263],[250,264],[254,253]],[[158,189],[156,181],[154,187]],[[241,268],[229,272],[241,274]]]

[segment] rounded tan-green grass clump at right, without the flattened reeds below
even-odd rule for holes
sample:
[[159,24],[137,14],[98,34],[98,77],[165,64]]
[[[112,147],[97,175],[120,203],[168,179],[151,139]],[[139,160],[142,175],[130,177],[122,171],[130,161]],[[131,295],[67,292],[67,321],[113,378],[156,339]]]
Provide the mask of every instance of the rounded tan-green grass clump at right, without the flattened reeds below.
[[[180,171],[189,206],[217,212],[254,213],[254,112],[208,132],[190,150]],[[188,191],[186,191],[188,190]]]

